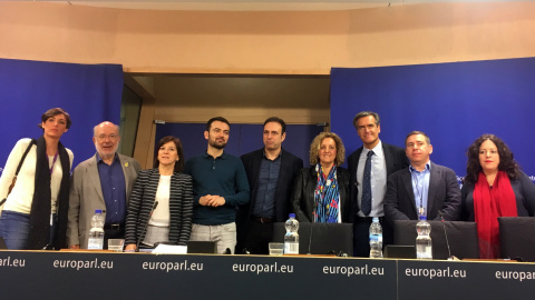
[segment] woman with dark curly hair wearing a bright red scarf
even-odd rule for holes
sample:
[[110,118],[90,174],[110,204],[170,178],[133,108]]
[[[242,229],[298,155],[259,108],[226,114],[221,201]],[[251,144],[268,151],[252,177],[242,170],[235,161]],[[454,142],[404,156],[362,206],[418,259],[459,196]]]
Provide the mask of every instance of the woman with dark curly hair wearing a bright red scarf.
[[497,259],[498,217],[533,217],[535,184],[519,170],[509,148],[494,134],[479,137],[467,156],[461,219],[477,223],[479,258]]

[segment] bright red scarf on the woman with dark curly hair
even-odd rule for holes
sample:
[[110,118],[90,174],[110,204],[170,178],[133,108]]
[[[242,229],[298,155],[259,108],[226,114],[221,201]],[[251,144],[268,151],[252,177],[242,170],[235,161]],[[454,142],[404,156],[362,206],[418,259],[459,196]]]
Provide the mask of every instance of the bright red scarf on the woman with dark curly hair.
[[474,211],[479,239],[479,258],[499,258],[498,217],[518,217],[516,200],[509,178],[498,171],[493,188],[483,172],[474,187]]

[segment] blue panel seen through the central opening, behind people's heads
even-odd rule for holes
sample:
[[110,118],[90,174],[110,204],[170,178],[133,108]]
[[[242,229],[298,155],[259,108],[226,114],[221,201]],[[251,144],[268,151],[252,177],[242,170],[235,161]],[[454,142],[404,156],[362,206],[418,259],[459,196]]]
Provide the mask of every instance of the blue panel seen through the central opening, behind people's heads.
[[[205,123],[165,123],[156,128],[156,144],[165,136],[175,136],[184,147],[185,159],[206,151],[204,139]],[[231,124],[231,136],[225,151],[233,156],[242,156],[262,148],[263,124]],[[309,149],[312,139],[323,131],[323,127],[313,124],[286,124],[286,139],[282,147],[301,158],[304,166],[309,164]]]

